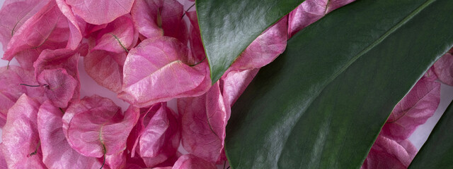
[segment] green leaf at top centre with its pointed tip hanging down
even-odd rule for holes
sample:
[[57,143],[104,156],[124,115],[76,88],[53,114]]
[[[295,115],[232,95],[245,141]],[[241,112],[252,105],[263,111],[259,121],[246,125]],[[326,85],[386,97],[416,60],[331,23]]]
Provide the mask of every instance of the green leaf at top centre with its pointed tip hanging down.
[[197,17],[212,84],[261,32],[304,0],[197,0]]

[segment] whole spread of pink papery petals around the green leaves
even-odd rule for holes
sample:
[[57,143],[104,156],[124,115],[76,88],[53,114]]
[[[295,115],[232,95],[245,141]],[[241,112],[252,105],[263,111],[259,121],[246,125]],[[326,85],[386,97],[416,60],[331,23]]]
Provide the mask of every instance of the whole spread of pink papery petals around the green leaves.
[[[231,106],[258,70],[289,37],[351,1],[305,1],[212,85],[197,14],[176,0],[6,0],[3,59],[21,66],[0,68],[0,167],[216,168],[226,161]],[[80,98],[81,58],[127,110],[102,96]],[[453,83],[452,64],[447,54],[415,84],[362,168],[407,167],[416,153],[407,138],[439,104],[437,77]]]

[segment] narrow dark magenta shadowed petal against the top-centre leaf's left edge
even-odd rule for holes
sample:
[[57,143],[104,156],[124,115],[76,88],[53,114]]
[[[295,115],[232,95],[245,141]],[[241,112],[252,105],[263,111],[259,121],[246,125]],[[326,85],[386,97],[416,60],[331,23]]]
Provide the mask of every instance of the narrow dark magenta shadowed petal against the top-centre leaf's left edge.
[[[198,63],[206,58],[206,54],[205,54],[205,48],[203,47],[203,43],[201,41],[200,27],[198,25],[198,19],[197,19],[197,12],[191,11],[191,12],[187,12],[185,14],[188,16],[188,18],[190,20],[189,41],[190,41],[190,51],[192,52],[192,55],[193,55],[192,60],[194,63]],[[190,58],[189,58],[189,61],[190,61]]]

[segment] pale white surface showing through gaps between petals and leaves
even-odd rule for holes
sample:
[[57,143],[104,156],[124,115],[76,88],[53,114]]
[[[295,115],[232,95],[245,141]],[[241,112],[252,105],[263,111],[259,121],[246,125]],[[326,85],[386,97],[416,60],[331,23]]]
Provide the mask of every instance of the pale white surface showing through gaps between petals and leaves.
[[[184,8],[187,9],[189,6],[191,6],[193,3],[185,0],[178,0],[181,2],[181,4],[184,4]],[[0,6],[4,3],[4,0],[0,0]],[[194,9],[191,9],[190,11],[193,11]],[[0,19],[3,16],[0,16]],[[1,45],[0,45],[1,46]],[[0,55],[3,56],[4,51],[0,49]],[[116,94],[114,92],[110,92],[110,90],[105,89],[104,87],[101,87],[98,85],[94,80],[89,77],[84,69],[84,64],[83,64],[83,57],[81,57],[79,61],[79,73],[80,73],[80,81],[81,81],[81,97],[83,98],[84,96],[91,96],[93,94],[98,94],[99,96],[104,96],[107,98],[112,99],[115,104],[118,106],[122,107],[122,110],[126,110],[129,104],[127,104],[125,101],[122,101],[120,99],[117,99]],[[8,61],[0,60],[0,67],[6,66],[8,64]],[[18,65],[16,60],[11,61],[10,65]],[[428,136],[432,130],[432,128],[435,126],[437,121],[440,119],[440,116],[442,113],[445,111],[447,106],[449,105],[450,101],[453,99],[453,87],[448,86],[446,84],[442,84],[441,86],[441,95],[440,95],[440,105],[437,108],[437,111],[435,112],[435,115],[433,115],[424,125],[420,125],[417,130],[409,137],[409,140],[417,147],[417,149],[420,149],[421,146],[423,146],[423,143],[428,139]],[[379,98],[377,98],[379,99]],[[176,101],[173,99],[172,101],[169,101],[168,106],[170,106],[173,111],[177,111],[176,108]],[[0,142],[1,142],[1,130],[0,130]],[[181,149],[182,150],[182,149]]]

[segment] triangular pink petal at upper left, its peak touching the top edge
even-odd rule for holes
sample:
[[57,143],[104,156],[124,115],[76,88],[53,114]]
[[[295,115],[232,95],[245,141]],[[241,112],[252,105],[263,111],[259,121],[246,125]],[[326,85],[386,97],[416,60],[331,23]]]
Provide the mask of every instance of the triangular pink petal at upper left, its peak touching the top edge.
[[76,31],[55,1],[50,1],[17,30],[3,58],[11,61],[21,51],[33,49],[59,49],[66,46],[74,50],[80,42],[81,32]]

